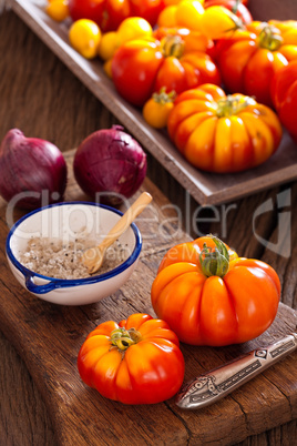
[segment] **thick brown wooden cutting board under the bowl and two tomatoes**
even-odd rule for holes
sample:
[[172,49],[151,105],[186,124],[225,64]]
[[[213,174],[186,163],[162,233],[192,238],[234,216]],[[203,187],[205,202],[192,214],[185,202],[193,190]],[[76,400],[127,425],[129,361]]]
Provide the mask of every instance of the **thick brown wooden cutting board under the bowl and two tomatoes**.
[[[70,165],[72,153],[65,155]],[[125,406],[86,387],[76,356],[86,335],[101,322],[121,321],[135,312],[154,315],[150,290],[167,249],[190,236],[176,231],[165,196],[145,180],[142,190],[154,201],[137,225],[143,234],[141,261],[131,280],[104,301],[81,307],[43,302],[24,291],[9,271],[4,242],[6,204],[0,202],[0,326],[16,346],[37,383],[61,445],[185,445],[244,440],[297,417],[297,354],[283,359],[225,399],[201,410],[180,409],[174,398],[143,406]],[[68,200],[85,196],[72,178]],[[21,215],[17,212],[14,219]],[[257,339],[223,348],[182,345],[185,381],[274,342],[295,330],[297,312],[280,304],[272,327]]]

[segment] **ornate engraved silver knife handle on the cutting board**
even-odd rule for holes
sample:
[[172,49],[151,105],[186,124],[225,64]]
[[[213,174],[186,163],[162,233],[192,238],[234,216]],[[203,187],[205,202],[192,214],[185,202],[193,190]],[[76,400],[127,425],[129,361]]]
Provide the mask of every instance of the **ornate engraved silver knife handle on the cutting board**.
[[185,409],[208,406],[224,398],[296,348],[297,333],[293,333],[268,347],[254,349],[183,386],[175,403]]

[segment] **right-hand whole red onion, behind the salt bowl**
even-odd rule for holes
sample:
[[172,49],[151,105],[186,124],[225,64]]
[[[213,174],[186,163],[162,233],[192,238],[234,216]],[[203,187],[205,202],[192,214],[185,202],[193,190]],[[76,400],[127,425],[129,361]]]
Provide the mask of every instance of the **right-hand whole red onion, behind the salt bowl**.
[[74,176],[93,199],[112,205],[129,199],[146,174],[146,155],[120,125],[91,133],[78,148]]

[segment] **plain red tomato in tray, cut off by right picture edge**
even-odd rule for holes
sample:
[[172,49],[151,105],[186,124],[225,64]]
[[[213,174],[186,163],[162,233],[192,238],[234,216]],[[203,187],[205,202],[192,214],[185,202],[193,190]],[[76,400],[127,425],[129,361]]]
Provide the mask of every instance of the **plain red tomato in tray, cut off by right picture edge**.
[[297,60],[275,74],[272,97],[281,123],[297,143]]

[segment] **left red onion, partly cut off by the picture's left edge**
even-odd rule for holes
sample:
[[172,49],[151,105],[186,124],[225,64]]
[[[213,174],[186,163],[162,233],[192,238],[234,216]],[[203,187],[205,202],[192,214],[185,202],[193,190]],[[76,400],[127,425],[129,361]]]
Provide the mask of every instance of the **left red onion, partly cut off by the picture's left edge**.
[[[18,200],[16,205],[32,210],[62,201],[65,186],[66,163],[54,144],[25,138],[19,129],[11,129],[6,134],[0,145],[0,195],[7,202],[27,192],[28,196]],[[44,200],[45,194],[44,203],[42,196]]]

